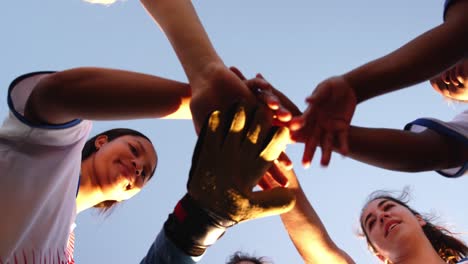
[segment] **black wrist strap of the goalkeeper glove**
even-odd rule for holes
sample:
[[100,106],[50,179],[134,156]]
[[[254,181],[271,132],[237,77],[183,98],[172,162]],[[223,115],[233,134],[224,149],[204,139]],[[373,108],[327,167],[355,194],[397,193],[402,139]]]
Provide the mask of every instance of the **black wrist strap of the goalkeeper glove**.
[[164,230],[179,249],[190,256],[200,256],[235,224],[204,210],[186,194],[164,223]]

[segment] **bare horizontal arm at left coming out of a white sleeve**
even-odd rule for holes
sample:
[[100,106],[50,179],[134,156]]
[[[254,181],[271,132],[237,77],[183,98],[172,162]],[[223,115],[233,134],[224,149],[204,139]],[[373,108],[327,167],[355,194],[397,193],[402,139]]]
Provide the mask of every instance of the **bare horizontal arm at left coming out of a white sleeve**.
[[32,122],[61,124],[81,118],[190,119],[190,87],[136,72],[76,68],[45,76],[26,104]]

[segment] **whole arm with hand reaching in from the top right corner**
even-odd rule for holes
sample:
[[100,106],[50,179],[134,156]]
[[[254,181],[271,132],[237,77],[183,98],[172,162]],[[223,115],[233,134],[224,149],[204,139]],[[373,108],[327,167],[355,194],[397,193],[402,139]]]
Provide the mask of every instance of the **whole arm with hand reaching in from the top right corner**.
[[347,154],[349,126],[360,102],[429,80],[467,57],[468,0],[452,2],[443,24],[386,56],[316,87],[307,98],[308,109],[290,127],[296,130],[293,136],[306,143],[304,165],[310,164],[317,146],[323,151],[322,165],[328,165],[334,138],[340,140],[340,152]]

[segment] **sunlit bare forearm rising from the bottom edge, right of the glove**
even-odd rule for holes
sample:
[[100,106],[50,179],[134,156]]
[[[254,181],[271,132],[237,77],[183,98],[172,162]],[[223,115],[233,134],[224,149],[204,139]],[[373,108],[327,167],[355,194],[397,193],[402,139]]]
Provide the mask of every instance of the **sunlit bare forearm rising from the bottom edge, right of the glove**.
[[281,220],[304,263],[354,263],[330,238],[314,208],[307,200],[294,171],[288,175],[289,187],[296,195],[295,207],[281,214]]

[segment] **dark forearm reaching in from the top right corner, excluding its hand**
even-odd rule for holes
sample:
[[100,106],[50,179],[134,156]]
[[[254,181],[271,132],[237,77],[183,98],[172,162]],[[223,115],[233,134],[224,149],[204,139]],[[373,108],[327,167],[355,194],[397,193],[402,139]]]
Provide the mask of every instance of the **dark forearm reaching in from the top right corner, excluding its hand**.
[[446,21],[396,51],[344,75],[358,102],[428,80],[468,54],[468,1],[458,1]]

